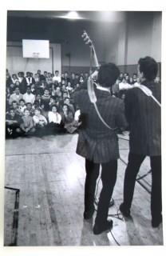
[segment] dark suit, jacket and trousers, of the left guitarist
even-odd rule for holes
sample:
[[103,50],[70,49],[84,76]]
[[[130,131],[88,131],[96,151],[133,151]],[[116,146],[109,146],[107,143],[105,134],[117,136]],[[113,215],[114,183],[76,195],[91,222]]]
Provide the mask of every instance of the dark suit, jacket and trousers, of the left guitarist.
[[[97,107],[102,118],[112,128],[127,125],[124,117],[124,103],[113,98],[109,91],[95,89]],[[115,130],[109,130],[98,117],[87,90],[78,90],[73,100],[81,110],[82,127],[77,142],[77,154],[85,158],[85,214],[94,210],[94,194],[100,164],[102,190],[97,207],[95,223],[104,226],[107,222],[109,202],[117,180],[118,139]]]

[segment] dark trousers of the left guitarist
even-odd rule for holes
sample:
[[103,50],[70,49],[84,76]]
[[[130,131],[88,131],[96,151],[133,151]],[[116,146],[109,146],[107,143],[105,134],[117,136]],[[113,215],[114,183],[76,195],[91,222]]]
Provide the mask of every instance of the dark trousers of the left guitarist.
[[[113,188],[117,180],[117,160],[101,164],[102,189],[97,207],[95,222],[102,226],[107,221],[109,202],[112,198]],[[85,159],[85,211],[94,209],[94,194],[99,175],[100,164]]]

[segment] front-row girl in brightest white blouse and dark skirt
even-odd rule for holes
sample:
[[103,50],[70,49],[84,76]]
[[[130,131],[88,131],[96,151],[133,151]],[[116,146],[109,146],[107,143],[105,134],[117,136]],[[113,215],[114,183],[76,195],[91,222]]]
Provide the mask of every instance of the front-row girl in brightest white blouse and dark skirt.
[[48,114],[48,119],[49,119],[49,133],[51,134],[56,134],[59,132],[64,132],[64,128],[61,125],[61,114],[57,112],[57,106],[53,105],[51,107],[51,111],[49,111]]

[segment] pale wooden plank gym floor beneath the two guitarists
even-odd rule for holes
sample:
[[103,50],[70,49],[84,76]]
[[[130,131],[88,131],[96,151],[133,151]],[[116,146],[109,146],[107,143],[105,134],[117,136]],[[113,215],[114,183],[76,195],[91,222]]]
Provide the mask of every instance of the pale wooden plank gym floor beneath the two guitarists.
[[[117,214],[123,198],[128,135],[119,137],[121,159],[109,214]],[[93,235],[96,214],[83,219],[85,160],[75,153],[76,145],[77,134],[6,140],[5,185],[20,191],[5,190],[5,246],[163,245],[162,225],[151,226],[151,174],[136,182],[132,218],[109,217],[112,234]],[[149,169],[146,158],[138,178]],[[100,190],[101,180],[97,198]]]

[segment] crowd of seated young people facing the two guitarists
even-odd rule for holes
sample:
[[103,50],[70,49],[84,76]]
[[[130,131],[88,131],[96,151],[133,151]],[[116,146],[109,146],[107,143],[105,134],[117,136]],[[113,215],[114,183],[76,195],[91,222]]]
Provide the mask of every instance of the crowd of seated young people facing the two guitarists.
[[[88,78],[89,72],[60,75],[58,70],[54,74],[38,70],[10,75],[6,70],[6,138],[77,132],[80,110],[73,92]],[[139,83],[136,74],[121,73],[112,94],[124,99],[125,91]]]

